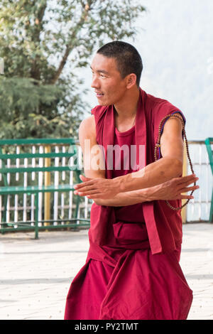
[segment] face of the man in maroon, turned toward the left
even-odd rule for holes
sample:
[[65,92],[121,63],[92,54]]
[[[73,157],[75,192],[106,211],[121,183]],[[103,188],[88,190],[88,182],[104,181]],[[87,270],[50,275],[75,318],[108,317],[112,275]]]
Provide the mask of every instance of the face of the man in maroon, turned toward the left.
[[126,80],[122,79],[114,58],[97,53],[91,64],[92,84],[100,105],[121,102],[126,92]]

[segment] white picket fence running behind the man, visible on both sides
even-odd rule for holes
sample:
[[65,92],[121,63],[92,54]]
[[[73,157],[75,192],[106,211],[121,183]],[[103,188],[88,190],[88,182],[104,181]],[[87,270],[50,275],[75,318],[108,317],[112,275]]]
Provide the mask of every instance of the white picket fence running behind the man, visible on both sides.
[[[197,184],[200,185],[200,189],[196,190],[194,195],[195,199],[190,200],[190,202],[187,204],[186,208],[186,222],[200,222],[200,221],[208,221],[209,220],[209,210],[211,205],[211,196],[212,196],[212,171],[209,166],[209,158],[207,155],[207,149],[204,145],[204,141],[188,141],[189,143],[189,151],[190,151],[190,157],[192,160],[192,165],[194,168],[194,171],[196,175],[200,178]],[[39,151],[39,153],[43,153],[43,146],[35,147],[32,146],[32,153],[35,153],[35,150]],[[60,153],[60,151],[65,151],[67,149],[67,146],[55,146],[55,153]],[[20,150],[19,146],[16,147],[16,153],[18,153]],[[81,150],[80,150],[81,154]],[[80,157],[82,158],[82,157]],[[35,166],[35,159],[31,159],[31,161],[28,161],[30,159],[24,160],[24,166],[28,166],[28,164]],[[0,161],[1,163],[1,161]],[[7,166],[10,166],[10,159],[7,160]],[[38,166],[42,167],[44,163],[43,158],[39,158]],[[59,166],[59,158],[55,158],[55,166]],[[65,166],[65,163],[67,163],[64,160],[62,160],[62,166]],[[19,159],[16,159],[16,165],[19,166],[20,161]],[[11,166],[12,167],[12,166]],[[69,181],[67,181],[67,174],[69,173]],[[73,171],[69,172],[62,172],[61,175],[59,175],[58,171],[54,172],[54,185],[58,185],[60,183],[63,183],[66,179],[66,183],[70,183],[70,185],[73,184]],[[187,174],[190,174],[190,166],[188,164],[187,166]],[[26,174],[26,173],[25,173]],[[44,172],[38,173],[38,185],[44,185]],[[16,181],[18,182],[19,174],[16,174]],[[35,173],[31,173],[31,179],[35,180]],[[1,176],[0,176],[1,181]],[[11,182],[11,176],[8,175],[7,181],[10,184]],[[23,185],[28,185],[28,176],[23,176]],[[28,198],[30,196],[30,200]],[[44,220],[44,197],[45,194],[40,193],[39,194],[39,212],[38,217],[39,220]],[[52,208],[51,208],[51,217],[54,220],[53,224],[57,225],[57,220],[62,220],[63,218],[65,220],[72,219],[73,212],[75,212],[75,204],[73,203],[73,193],[70,191],[70,193],[53,193],[52,198]],[[28,199],[27,199],[28,198]],[[20,205],[19,203],[22,203]],[[30,204],[29,204],[30,203]],[[90,208],[92,205],[92,200],[88,200],[87,197],[81,199],[80,207],[78,210],[78,218],[84,218],[89,219],[90,215]],[[7,201],[7,208],[6,208],[6,222],[18,222],[21,220],[23,222],[28,222],[33,225],[34,220],[34,195],[14,195],[13,200],[11,200],[10,196]],[[0,222],[2,219],[2,212],[4,210],[4,203],[0,196]],[[63,222],[62,222],[63,223]],[[40,223],[41,225],[41,223]]]

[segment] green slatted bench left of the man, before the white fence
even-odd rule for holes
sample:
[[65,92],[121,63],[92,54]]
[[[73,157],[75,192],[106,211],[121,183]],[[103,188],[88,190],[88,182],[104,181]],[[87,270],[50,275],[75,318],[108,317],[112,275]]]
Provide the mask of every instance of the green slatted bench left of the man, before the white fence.
[[[38,148],[43,148],[42,152]],[[65,150],[65,147],[68,149]],[[22,151],[21,151],[21,149]],[[33,148],[33,149],[32,149]],[[58,149],[55,149],[58,148]],[[60,149],[59,149],[60,148]],[[37,151],[36,151],[37,149]],[[55,151],[54,151],[55,149]],[[80,165],[78,163],[78,150],[75,139],[8,139],[0,140],[0,174],[1,174],[1,233],[16,230],[35,230],[35,239],[38,239],[38,230],[48,230],[53,228],[77,227],[89,225],[89,219],[77,217],[80,205],[80,196],[75,195],[75,215],[74,218],[60,219],[45,217],[40,220],[38,212],[40,209],[39,194],[43,193],[45,198],[45,212],[50,206],[50,194],[73,192],[74,185],[80,183]],[[72,163],[70,159],[72,158]],[[75,158],[75,164],[73,160]],[[56,163],[57,161],[57,163]],[[72,172],[73,183],[67,182],[70,172]],[[45,176],[45,181],[39,184],[38,174]],[[19,179],[19,176],[22,181]],[[63,174],[63,177],[62,177]],[[67,176],[68,175],[68,176]],[[55,178],[57,176],[57,178]],[[18,181],[15,180],[18,178]],[[54,178],[54,182],[53,182]],[[63,181],[62,181],[63,178]],[[74,183],[75,178],[75,183]],[[51,180],[52,179],[52,180]],[[58,180],[58,183],[55,183]],[[70,180],[68,180],[70,181]],[[19,183],[17,185],[17,182]],[[23,184],[20,184],[20,183]],[[30,184],[29,184],[30,183]],[[45,183],[45,184],[43,184]],[[6,219],[9,199],[16,196],[33,195],[32,211],[34,220],[8,221]],[[47,194],[47,195],[45,195]],[[26,197],[25,197],[26,198]],[[16,197],[16,206],[19,199]],[[15,200],[14,200],[15,201]],[[20,200],[19,200],[20,201]],[[31,197],[32,202],[32,197]],[[55,203],[55,202],[54,202]],[[40,205],[40,206],[39,206]],[[47,208],[46,208],[47,207]],[[17,209],[17,208],[16,208]],[[18,210],[18,209],[17,209]],[[16,212],[18,212],[16,210]],[[29,210],[28,210],[29,211]],[[15,213],[14,213],[15,214]],[[18,215],[18,213],[17,213]],[[29,214],[28,214],[29,215]],[[50,215],[50,212],[49,214]],[[47,214],[46,214],[47,216]],[[74,221],[74,222],[73,222]],[[53,224],[54,222],[54,224]],[[40,224],[39,224],[40,223]],[[40,225],[40,226],[39,226]]]

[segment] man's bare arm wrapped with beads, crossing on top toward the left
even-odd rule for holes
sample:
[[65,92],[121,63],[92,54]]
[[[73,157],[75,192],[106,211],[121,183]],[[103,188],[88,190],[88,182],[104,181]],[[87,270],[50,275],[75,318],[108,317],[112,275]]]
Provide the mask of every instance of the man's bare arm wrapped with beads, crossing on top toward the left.
[[118,193],[150,188],[179,177],[182,174],[183,159],[182,123],[179,119],[168,119],[165,123],[160,149],[163,158],[150,163],[140,171],[111,180],[95,178],[76,185],[76,189],[81,195],[107,199]]

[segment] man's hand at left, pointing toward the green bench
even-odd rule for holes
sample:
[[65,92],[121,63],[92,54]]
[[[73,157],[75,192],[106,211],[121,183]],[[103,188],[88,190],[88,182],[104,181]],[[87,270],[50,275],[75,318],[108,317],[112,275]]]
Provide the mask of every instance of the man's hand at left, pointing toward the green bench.
[[86,178],[80,175],[82,183],[74,185],[75,195],[87,196],[87,198],[113,198],[119,193],[119,187],[114,179],[107,178]]

